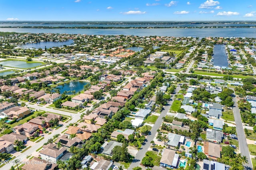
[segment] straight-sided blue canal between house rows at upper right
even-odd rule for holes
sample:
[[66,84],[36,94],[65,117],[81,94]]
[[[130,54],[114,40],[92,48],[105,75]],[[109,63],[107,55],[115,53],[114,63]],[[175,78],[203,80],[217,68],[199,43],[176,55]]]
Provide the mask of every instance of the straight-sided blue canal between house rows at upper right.
[[214,66],[228,67],[228,56],[226,55],[225,52],[225,45],[216,44],[214,47],[213,57]]

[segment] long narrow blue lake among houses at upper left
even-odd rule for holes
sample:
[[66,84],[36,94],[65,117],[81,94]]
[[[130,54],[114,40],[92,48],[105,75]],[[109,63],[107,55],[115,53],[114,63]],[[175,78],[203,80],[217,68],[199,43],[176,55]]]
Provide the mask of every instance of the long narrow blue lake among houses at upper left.
[[40,43],[28,43],[28,44],[22,44],[22,45],[18,45],[18,47],[21,48],[35,48],[35,49],[44,49],[46,48],[52,48],[52,47],[61,47],[64,45],[71,45],[72,43],[74,43],[74,40],[70,39],[68,41],[61,41],[61,42],[53,42],[53,41],[46,41],[46,42],[40,42]]

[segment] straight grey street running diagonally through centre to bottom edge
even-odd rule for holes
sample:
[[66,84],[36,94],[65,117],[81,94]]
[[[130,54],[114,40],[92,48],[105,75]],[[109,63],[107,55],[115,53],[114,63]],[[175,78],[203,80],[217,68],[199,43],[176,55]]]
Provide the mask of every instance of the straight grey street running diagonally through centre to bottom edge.
[[[180,86],[177,86],[176,88],[176,93],[178,93],[180,91]],[[132,162],[132,164],[130,164],[130,167],[128,168],[128,170],[132,170],[132,168],[136,167],[136,166],[140,166],[140,162],[142,160],[142,158],[145,156],[146,152],[148,151],[148,148],[150,147],[150,142],[153,141],[157,130],[160,129],[160,126],[162,125],[163,122],[163,117],[166,116],[166,113],[169,111],[170,107],[172,106],[172,102],[174,100],[174,95],[172,95],[172,100],[170,102],[168,102],[168,106],[164,107],[164,110],[161,112],[160,116],[158,117],[158,119],[156,120],[156,123],[154,124],[154,126],[151,129],[151,134],[147,136],[147,141],[145,142],[145,145],[142,145],[142,149],[140,149],[138,151],[138,153],[136,154],[134,161]]]

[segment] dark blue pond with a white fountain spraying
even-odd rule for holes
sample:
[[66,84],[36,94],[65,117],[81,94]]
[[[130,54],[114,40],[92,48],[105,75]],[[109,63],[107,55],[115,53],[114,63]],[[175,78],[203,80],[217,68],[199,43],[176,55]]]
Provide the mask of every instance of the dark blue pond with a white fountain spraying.
[[68,83],[59,85],[56,88],[60,89],[60,94],[63,94],[64,91],[73,91],[73,90],[76,90],[76,93],[77,93],[84,90],[84,85],[88,83],[89,82],[85,82],[85,81],[70,81]]

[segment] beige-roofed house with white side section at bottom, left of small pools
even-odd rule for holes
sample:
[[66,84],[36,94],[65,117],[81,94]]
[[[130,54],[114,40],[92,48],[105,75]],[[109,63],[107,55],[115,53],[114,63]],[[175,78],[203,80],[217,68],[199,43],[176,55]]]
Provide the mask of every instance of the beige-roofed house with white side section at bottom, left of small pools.
[[162,158],[160,160],[160,166],[167,167],[167,168],[177,168],[179,163],[179,158],[180,158],[180,155],[176,154],[175,150],[164,148],[162,152]]

